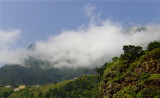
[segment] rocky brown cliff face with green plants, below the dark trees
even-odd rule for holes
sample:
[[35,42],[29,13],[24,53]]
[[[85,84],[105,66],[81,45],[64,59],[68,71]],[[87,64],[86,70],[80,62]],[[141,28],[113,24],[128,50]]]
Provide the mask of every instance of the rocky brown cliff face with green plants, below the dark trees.
[[101,84],[105,98],[160,98],[160,49],[131,64],[116,60],[108,65]]

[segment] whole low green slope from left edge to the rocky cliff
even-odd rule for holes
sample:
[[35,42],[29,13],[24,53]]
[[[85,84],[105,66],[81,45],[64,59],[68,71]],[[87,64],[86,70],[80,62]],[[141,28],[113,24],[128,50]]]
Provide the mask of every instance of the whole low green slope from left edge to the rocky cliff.
[[[99,79],[97,76],[83,76],[40,87],[27,86],[17,92],[13,89],[0,91],[0,97],[8,98],[99,98]],[[6,91],[8,90],[8,91]]]

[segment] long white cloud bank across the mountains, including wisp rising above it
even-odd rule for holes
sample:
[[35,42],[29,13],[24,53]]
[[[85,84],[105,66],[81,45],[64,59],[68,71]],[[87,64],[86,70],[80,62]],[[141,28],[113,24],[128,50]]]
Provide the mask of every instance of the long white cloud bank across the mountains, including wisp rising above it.
[[[160,41],[160,25],[125,28],[119,23],[95,17],[94,6],[87,5],[84,9],[92,20],[88,26],[64,30],[57,36],[50,36],[47,41],[37,41],[33,49],[0,51],[0,63],[23,65],[25,59],[33,57],[50,62],[51,67],[95,67],[119,56],[123,45],[146,47],[151,41]],[[15,38],[4,42],[9,43]]]

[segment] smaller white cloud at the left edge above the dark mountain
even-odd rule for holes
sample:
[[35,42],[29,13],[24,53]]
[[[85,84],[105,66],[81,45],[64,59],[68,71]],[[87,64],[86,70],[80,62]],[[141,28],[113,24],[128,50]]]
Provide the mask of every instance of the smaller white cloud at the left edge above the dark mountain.
[[16,49],[13,51],[12,46],[20,37],[20,30],[1,30],[0,31],[0,64],[5,63],[19,63],[21,51]]

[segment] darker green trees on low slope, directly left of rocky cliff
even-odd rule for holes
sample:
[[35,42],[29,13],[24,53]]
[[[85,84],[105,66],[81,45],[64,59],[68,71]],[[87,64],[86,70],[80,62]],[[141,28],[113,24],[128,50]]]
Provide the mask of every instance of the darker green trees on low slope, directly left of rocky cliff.
[[[98,78],[87,76],[76,79],[59,89],[50,89],[48,97],[61,96],[61,98],[98,98]],[[50,95],[49,95],[50,94]]]

